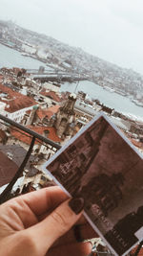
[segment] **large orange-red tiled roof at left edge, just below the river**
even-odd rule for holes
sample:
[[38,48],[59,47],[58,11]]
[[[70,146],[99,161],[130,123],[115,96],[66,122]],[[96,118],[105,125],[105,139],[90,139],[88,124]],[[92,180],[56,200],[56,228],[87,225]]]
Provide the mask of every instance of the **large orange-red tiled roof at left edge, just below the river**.
[[2,99],[0,97],[0,101],[9,105],[9,107],[6,106],[5,110],[10,113],[23,109],[25,107],[36,105],[36,102],[33,101],[30,97],[25,96],[19,92],[13,91],[12,89],[3,84],[0,84],[0,92],[7,93],[8,95],[6,99]]

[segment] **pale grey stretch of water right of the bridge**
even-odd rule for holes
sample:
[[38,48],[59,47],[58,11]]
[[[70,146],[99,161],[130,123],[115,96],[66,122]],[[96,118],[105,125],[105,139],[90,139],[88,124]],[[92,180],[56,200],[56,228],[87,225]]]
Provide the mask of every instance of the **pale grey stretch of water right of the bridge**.
[[91,98],[98,99],[104,105],[112,107],[120,113],[137,117],[137,119],[143,121],[143,107],[133,104],[133,102],[125,96],[107,91],[92,81],[79,81],[78,85],[76,83],[66,82],[61,86],[62,91],[74,92],[75,89],[76,92],[84,91],[88,93]]

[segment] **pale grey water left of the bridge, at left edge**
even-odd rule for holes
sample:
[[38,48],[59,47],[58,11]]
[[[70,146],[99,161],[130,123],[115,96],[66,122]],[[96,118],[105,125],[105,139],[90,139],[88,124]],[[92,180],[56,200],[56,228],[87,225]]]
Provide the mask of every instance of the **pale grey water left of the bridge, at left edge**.
[[45,63],[30,57],[24,57],[21,53],[0,44],[0,68],[20,67],[25,69],[38,69],[39,66],[48,67]]

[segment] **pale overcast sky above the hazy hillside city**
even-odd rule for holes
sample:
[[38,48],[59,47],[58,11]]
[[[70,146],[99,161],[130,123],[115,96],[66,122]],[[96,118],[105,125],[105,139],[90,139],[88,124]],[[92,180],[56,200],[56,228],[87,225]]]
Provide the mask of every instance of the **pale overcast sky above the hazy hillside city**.
[[0,19],[143,74],[143,0],[0,0]]

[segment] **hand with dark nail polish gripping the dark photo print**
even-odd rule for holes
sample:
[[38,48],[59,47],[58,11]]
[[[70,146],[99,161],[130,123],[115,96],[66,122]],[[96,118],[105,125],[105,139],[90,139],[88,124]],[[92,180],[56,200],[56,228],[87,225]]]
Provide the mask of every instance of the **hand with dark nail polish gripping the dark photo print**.
[[[72,209],[67,195],[57,186],[12,198],[0,205],[0,255],[89,254],[92,245],[77,243],[74,238],[72,225],[82,213],[75,214]],[[80,219],[78,224],[84,239],[96,237],[86,221]]]

